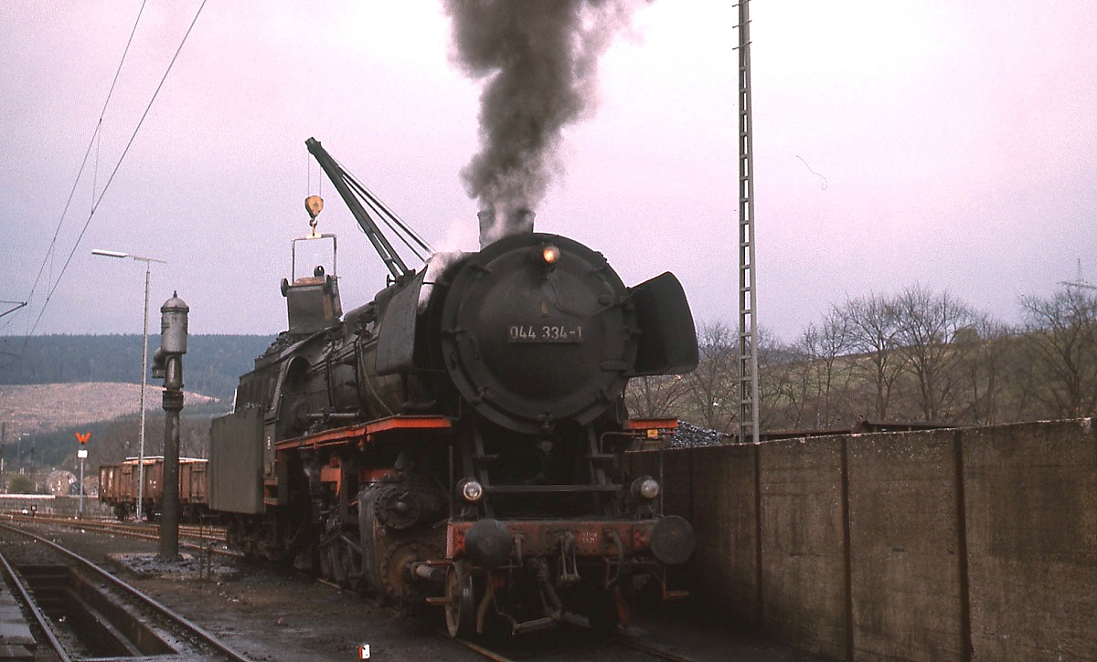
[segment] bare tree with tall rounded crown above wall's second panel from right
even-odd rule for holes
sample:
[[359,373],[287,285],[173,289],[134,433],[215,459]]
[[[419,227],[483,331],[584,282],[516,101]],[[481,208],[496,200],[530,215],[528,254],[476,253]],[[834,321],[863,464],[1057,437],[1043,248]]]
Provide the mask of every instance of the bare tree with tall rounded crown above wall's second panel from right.
[[957,331],[971,323],[968,306],[948,292],[907,287],[895,300],[898,352],[914,376],[916,397],[927,421],[943,421],[955,397]]

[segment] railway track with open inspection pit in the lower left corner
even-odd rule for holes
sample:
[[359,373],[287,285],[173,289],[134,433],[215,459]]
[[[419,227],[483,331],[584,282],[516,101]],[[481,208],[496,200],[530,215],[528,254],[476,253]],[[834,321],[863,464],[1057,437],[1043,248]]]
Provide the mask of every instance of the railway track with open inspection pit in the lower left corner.
[[32,614],[34,646],[58,660],[248,660],[94,562],[9,524],[0,524],[0,568]]

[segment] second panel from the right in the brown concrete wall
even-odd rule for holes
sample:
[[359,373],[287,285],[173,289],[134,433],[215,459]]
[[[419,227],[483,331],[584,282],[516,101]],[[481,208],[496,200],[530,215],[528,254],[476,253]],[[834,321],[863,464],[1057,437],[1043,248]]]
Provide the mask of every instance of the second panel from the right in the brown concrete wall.
[[906,432],[846,441],[857,658],[963,658],[955,436]]

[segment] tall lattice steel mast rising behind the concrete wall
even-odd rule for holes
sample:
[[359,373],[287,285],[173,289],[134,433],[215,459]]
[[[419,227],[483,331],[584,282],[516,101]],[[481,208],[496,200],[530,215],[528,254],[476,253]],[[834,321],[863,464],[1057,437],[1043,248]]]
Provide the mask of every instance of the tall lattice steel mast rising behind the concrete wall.
[[758,320],[755,317],[754,145],[749,0],[739,0],[739,442],[758,441]]

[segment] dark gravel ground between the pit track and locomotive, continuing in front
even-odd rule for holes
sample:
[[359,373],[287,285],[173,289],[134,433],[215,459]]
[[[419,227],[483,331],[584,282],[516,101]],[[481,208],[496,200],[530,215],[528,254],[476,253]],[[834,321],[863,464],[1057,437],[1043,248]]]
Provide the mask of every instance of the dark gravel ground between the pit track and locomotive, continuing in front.
[[[433,620],[404,617],[295,574],[231,560],[214,573],[219,579],[204,579],[193,561],[165,568],[148,560],[158,549],[156,541],[58,527],[36,533],[95,561],[111,555],[144,559],[131,560],[128,564],[144,572],[127,577],[128,581],[256,661],[357,660],[362,643],[370,644],[372,660],[484,660],[439,634],[440,613]],[[701,626],[680,605],[638,610],[629,635],[699,662],[819,660]],[[653,659],[574,627],[529,635],[504,648],[516,659],[545,662]]]

